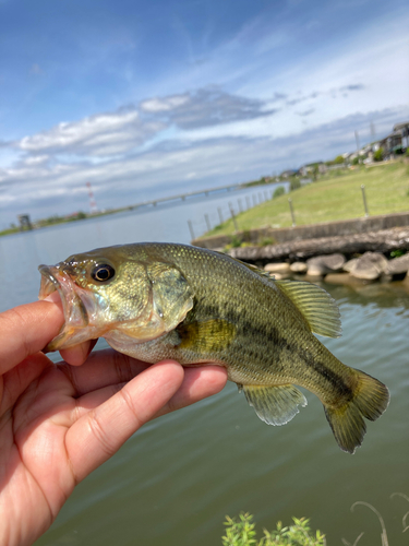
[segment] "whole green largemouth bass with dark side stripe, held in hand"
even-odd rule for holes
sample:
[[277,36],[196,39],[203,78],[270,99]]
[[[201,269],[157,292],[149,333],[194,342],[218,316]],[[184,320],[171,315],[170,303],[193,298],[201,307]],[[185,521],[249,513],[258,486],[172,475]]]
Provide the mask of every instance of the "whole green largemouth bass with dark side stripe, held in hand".
[[65,323],[47,351],[105,337],[147,363],[224,366],[261,419],[284,425],[306,405],[300,385],[324,405],[339,447],[353,453],[364,418],[386,410],[387,388],[340,363],[314,335],[340,335],[339,310],[322,288],[275,281],[228,256],[172,244],[135,244],[40,265],[39,298],[56,289]]

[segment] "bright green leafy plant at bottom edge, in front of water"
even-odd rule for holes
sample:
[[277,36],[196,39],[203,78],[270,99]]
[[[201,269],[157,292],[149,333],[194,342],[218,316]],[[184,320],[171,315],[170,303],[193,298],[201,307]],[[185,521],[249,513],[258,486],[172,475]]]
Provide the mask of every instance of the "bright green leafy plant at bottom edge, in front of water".
[[309,520],[292,518],[294,524],[282,526],[279,521],[277,529],[264,530],[264,537],[256,539],[253,515],[241,513],[239,519],[226,517],[226,534],[221,537],[224,546],[325,546],[325,536],[316,531],[311,533]]

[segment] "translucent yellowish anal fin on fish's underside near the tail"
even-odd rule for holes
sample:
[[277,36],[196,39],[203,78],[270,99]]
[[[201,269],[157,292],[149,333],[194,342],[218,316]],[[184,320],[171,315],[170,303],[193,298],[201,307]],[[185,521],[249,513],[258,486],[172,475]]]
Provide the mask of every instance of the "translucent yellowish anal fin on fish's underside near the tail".
[[298,413],[298,406],[306,406],[306,399],[292,384],[275,387],[242,385],[246,401],[267,425],[286,425]]

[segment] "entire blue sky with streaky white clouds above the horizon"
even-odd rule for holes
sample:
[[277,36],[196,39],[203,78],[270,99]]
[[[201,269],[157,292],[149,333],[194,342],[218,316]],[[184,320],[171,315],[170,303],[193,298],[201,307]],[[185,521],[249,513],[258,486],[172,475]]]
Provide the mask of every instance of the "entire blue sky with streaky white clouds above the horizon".
[[409,119],[409,5],[0,0],[0,228],[329,159]]

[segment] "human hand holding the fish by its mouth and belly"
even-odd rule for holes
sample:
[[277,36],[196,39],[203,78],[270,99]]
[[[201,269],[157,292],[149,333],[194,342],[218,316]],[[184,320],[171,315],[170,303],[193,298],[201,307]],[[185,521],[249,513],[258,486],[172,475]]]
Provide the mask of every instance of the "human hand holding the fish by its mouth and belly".
[[[0,544],[33,544],[77,483],[146,422],[220,391],[224,368],[154,366],[88,342],[40,351],[63,323],[51,301],[0,314]],[[85,363],[84,363],[85,361]],[[67,364],[70,363],[70,364]],[[83,364],[84,363],[84,364]],[[82,365],[82,366],[80,366]]]

